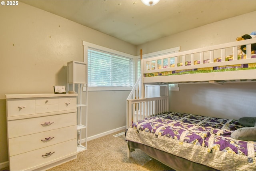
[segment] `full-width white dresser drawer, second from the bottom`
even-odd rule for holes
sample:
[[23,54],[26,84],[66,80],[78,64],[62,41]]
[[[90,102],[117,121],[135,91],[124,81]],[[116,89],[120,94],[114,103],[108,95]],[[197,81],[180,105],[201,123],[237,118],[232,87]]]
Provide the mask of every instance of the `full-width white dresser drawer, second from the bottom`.
[[9,139],[9,155],[18,155],[76,138],[76,125]]

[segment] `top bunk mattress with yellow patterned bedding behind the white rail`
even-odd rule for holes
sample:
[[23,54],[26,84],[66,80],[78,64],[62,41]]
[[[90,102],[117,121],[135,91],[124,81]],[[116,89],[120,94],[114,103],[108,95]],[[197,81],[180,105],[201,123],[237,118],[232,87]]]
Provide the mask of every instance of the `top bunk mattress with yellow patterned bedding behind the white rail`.
[[[251,58],[256,58],[256,54],[252,54]],[[238,60],[246,59],[246,55],[238,56]],[[232,61],[233,56],[226,56],[225,61]],[[221,62],[221,58],[215,58],[214,62]],[[204,60],[204,64],[210,63],[210,60]],[[200,64],[199,60],[194,61],[194,65]],[[191,61],[185,62],[185,66],[190,66]],[[183,66],[182,63],[178,63],[177,66]],[[173,68],[174,64],[170,65],[170,68]],[[164,66],[163,68],[167,68]],[[154,70],[155,68],[152,68]],[[158,68],[158,69],[161,69]],[[207,68],[196,68],[190,70],[174,70],[174,71],[165,71],[165,72],[152,72],[144,74],[144,77],[153,77],[153,76],[170,76],[170,75],[180,75],[180,74],[197,74],[197,73],[208,73],[208,72],[223,72],[223,71],[236,71],[236,70],[255,70],[256,63],[252,64],[238,64],[238,65],[229,65],[229,66],[216,66],[216,67],[207,67]]]

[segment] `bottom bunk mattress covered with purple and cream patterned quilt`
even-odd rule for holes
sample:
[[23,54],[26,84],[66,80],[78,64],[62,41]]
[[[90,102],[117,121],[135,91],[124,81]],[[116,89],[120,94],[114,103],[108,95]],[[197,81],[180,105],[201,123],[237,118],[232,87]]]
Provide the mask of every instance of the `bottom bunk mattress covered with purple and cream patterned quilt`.
[[168,112],[133,123],[126,140],[218,170],[256,170],[256,142],[230,137],[242,127],[234,119]]

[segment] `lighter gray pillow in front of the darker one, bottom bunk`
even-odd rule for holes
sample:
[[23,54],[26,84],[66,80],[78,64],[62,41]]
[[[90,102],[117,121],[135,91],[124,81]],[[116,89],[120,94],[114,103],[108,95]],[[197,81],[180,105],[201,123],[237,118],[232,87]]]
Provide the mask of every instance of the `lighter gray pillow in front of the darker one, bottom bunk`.
[[236,129],[230,135],[233,139],[244,141],[256,141],[256,126]]

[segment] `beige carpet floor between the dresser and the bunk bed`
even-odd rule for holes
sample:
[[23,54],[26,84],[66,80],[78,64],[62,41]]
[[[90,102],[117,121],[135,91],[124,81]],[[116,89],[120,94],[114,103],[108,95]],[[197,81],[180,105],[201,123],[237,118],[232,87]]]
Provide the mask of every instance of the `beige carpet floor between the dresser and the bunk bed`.
[[49,170],[172,170],[139,149],[132,152],[132,157],[128,158],[125,135],[113,136],[120,132],[122,131],[88,141],[88,150],[78,153],[77,159]]

